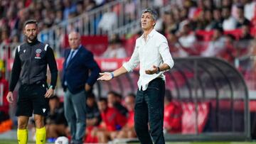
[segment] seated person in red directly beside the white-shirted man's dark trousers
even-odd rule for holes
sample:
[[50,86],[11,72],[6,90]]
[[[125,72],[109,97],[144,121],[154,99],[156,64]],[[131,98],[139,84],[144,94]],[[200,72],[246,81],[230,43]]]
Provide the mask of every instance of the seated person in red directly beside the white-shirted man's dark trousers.
[[117,131],[114,138],[136,138],[137,135],[134,130],[134,106],[135,106],[135,95],[128,94],[124,98],[125,106],[128,109],[128,120],[127,123],[122,127],[121,131]]

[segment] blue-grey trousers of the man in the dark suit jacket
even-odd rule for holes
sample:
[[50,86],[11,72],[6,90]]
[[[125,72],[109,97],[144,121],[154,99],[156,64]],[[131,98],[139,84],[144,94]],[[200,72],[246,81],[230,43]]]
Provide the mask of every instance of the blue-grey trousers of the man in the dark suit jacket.
[[86,126],[86,92],[83,90],[78,94],[72,94],[67,89],[64,94],[65,118],[70,127],[71,142],[83,143]]

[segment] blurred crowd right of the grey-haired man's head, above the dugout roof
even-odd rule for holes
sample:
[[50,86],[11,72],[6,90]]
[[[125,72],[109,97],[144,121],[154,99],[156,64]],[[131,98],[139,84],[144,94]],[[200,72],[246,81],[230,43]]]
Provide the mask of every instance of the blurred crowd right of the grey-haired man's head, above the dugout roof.
[[174,1],[156,24],[169,40],[174,57],[235,57],[255,51],[255,6],[252,0]]

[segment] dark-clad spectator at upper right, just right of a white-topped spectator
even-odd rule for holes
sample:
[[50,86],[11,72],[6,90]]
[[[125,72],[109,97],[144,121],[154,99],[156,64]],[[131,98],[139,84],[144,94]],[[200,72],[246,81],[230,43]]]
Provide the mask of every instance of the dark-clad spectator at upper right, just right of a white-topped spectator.
[[237,13],[238,13],[238,18],[237,18],[238,23],[236,28],[240,28],[243,25],[250,26],[250,21],[247,18],[245,18],[243,6],[237,6]]

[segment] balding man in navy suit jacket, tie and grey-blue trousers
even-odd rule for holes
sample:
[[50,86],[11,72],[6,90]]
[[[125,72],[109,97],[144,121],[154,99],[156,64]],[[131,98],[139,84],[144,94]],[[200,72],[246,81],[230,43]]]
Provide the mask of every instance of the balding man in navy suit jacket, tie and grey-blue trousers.
[[[65,52],[62,85],[65,91],[65,118],[70,126],[71,143],[82,143],[85,135],[86,96],[96,82],[100,68],[93,59],[92,52],[80,43],[80,34],[68,35],[70,50]],[[89,74],[90,72],[90,74]]]

